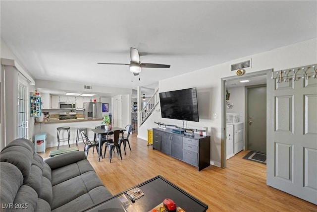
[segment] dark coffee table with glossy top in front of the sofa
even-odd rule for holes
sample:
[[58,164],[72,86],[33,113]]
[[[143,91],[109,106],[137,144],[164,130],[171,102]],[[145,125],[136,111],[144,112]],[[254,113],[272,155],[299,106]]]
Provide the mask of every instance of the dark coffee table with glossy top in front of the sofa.
[[[140,188],[144,196],[132,203],[127,192],[133,188]],[[114,195],[105,202],[89,209],[89,212],[149,212],[164,199],[169,198],[185,212],[206,212],[208,205],[188,194],[178,186],[158,175],[124,192]],[[122,201],[122,199],[125,199]]]

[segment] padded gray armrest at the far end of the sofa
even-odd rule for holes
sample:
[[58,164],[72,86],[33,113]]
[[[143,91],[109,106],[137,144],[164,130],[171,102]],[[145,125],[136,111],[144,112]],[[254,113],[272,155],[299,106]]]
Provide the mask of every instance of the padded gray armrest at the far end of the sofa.
[[44,161],[51,167],[51,169],[56,169],[84,159],[86,159],[84,151],[74,151],[59,154],[54,157],[47,158]]

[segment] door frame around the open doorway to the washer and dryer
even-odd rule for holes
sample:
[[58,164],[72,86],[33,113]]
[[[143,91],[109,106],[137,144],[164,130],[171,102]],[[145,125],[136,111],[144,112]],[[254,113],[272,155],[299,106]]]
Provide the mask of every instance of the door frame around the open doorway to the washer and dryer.
[[[221,168],[226,168],[227,166],[227,160],[226,160],[226,81],[230,81],[230,80],[234,80],[234,79],[246,79],[246,78],[250,78],[250,77],[254,77],[254,76],[261,76],[261,75],[267,75],[270,74],[271,71],[273,69],[267,69],[267,70],[263,70],[263,71],[255,71],[255,72],[251,72],[251,73],[246,73],[242,76],[238,76],[238,75],[233,75],[233,76],[227,76],[227,77],[223,77],[220,79],[220,83],[221,83],[221,95],[220,95],[220,99],[221,99],[221,138],[220,138],[220,142],[221,142],[221,156],[220,156],[220,167]],[[266,83],[267,83],[267,79],[266,79]],[[266,108],[267,110],[267,108]]]

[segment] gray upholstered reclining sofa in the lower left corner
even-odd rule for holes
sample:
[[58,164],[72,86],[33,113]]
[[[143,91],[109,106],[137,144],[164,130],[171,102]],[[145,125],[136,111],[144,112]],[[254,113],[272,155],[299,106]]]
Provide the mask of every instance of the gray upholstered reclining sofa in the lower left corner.
[[84,151],[48,158],[26,139],[0,153],[1,211],[80,212],[112,196]]

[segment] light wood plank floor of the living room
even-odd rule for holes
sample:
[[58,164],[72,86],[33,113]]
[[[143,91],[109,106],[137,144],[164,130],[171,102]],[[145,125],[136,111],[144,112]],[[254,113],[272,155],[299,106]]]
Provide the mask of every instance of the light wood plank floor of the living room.
[[[88,160],[112,193],[117,194],[149,178],[162,175],[209,206],[209,212],[317,212],[317,206],[266,185],[266,166],[242,159],[241,151],[227,161],[227,168],[209,166],[202,171],[147,146],[147,141],[130,136],[132,152],[122,160],[113,154],[98,162],[98,154],[89,151]],[[61,146],[60,148],[67,147]],[[83,150],[83,144],[79,149]],[[50,150],[39,153],[48,157]],[[122,146],[123,151],[123,146]],[[166,198],[168,198],[166,196]]]

